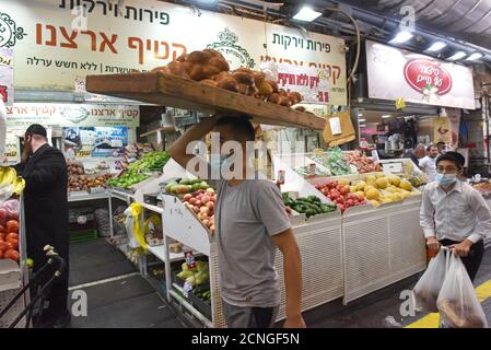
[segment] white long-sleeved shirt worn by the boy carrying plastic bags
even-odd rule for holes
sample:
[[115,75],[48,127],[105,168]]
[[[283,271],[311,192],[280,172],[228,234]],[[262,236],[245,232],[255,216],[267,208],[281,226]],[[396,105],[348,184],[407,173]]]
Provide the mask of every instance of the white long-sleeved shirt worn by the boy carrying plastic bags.
[[457,182],[448,194],[434,182],[424,187],[420,211],[424,236],[477,243],[491,233],[491,211],[481,194]]

